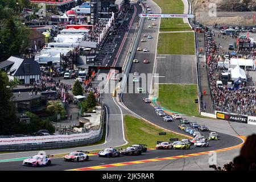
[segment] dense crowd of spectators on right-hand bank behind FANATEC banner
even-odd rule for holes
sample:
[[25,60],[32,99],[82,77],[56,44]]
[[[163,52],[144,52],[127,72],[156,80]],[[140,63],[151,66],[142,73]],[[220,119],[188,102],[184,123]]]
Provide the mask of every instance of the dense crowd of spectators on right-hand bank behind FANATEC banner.
[[[207,32],[205,35],[207,37]],[[222,59],[219,48],[220,46],[217,47],[214,41],[208,43],[207,39],[205,40],[205,53],[207,57],[210,56],[207,67],[214,109],[229,113],[256,115],[255,86],[241,85],[238,90],[228,90],[226,87],[216,85],[216,81],[221,79],[222,71],[222,68],[218,67],[218,61]]]

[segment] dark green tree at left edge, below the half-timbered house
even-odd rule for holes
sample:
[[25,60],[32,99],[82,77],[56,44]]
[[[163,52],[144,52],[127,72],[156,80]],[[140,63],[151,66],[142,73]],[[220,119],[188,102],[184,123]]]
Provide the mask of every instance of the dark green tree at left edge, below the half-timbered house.
[[16,108],[13,102],[11,89],[15,86],[15,80],[9,81],[5,72],[0,72],[0,135],[11,133],[16,123]]

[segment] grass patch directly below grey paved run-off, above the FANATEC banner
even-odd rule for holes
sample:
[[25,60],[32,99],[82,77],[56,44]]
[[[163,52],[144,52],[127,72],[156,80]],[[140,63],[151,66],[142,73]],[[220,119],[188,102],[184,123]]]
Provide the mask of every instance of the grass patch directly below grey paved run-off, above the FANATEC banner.
[[158,103],[173,111],[199,116],[197,85],[159,84]]

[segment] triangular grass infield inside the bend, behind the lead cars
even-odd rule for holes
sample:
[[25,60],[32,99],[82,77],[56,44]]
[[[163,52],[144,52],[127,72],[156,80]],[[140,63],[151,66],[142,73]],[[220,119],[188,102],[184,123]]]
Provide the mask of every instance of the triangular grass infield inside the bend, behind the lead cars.
[[[125,137],[129,143],[122,146],[123,148],[131,146],[131,144],[147,144],[147,148],[154,148],[157,141],[168,142],[170,138],[179,138],[179,140],[185,138],[130,115],[125,115],[124,126]],[[160,132],[166,132],[166,135],[158,135]]]

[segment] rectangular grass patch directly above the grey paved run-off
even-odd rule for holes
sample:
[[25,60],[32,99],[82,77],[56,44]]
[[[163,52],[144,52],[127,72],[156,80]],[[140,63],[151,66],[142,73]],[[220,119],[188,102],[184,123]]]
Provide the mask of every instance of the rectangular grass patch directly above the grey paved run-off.
[[195,55],[193,32],[159,34],[158,54]]

